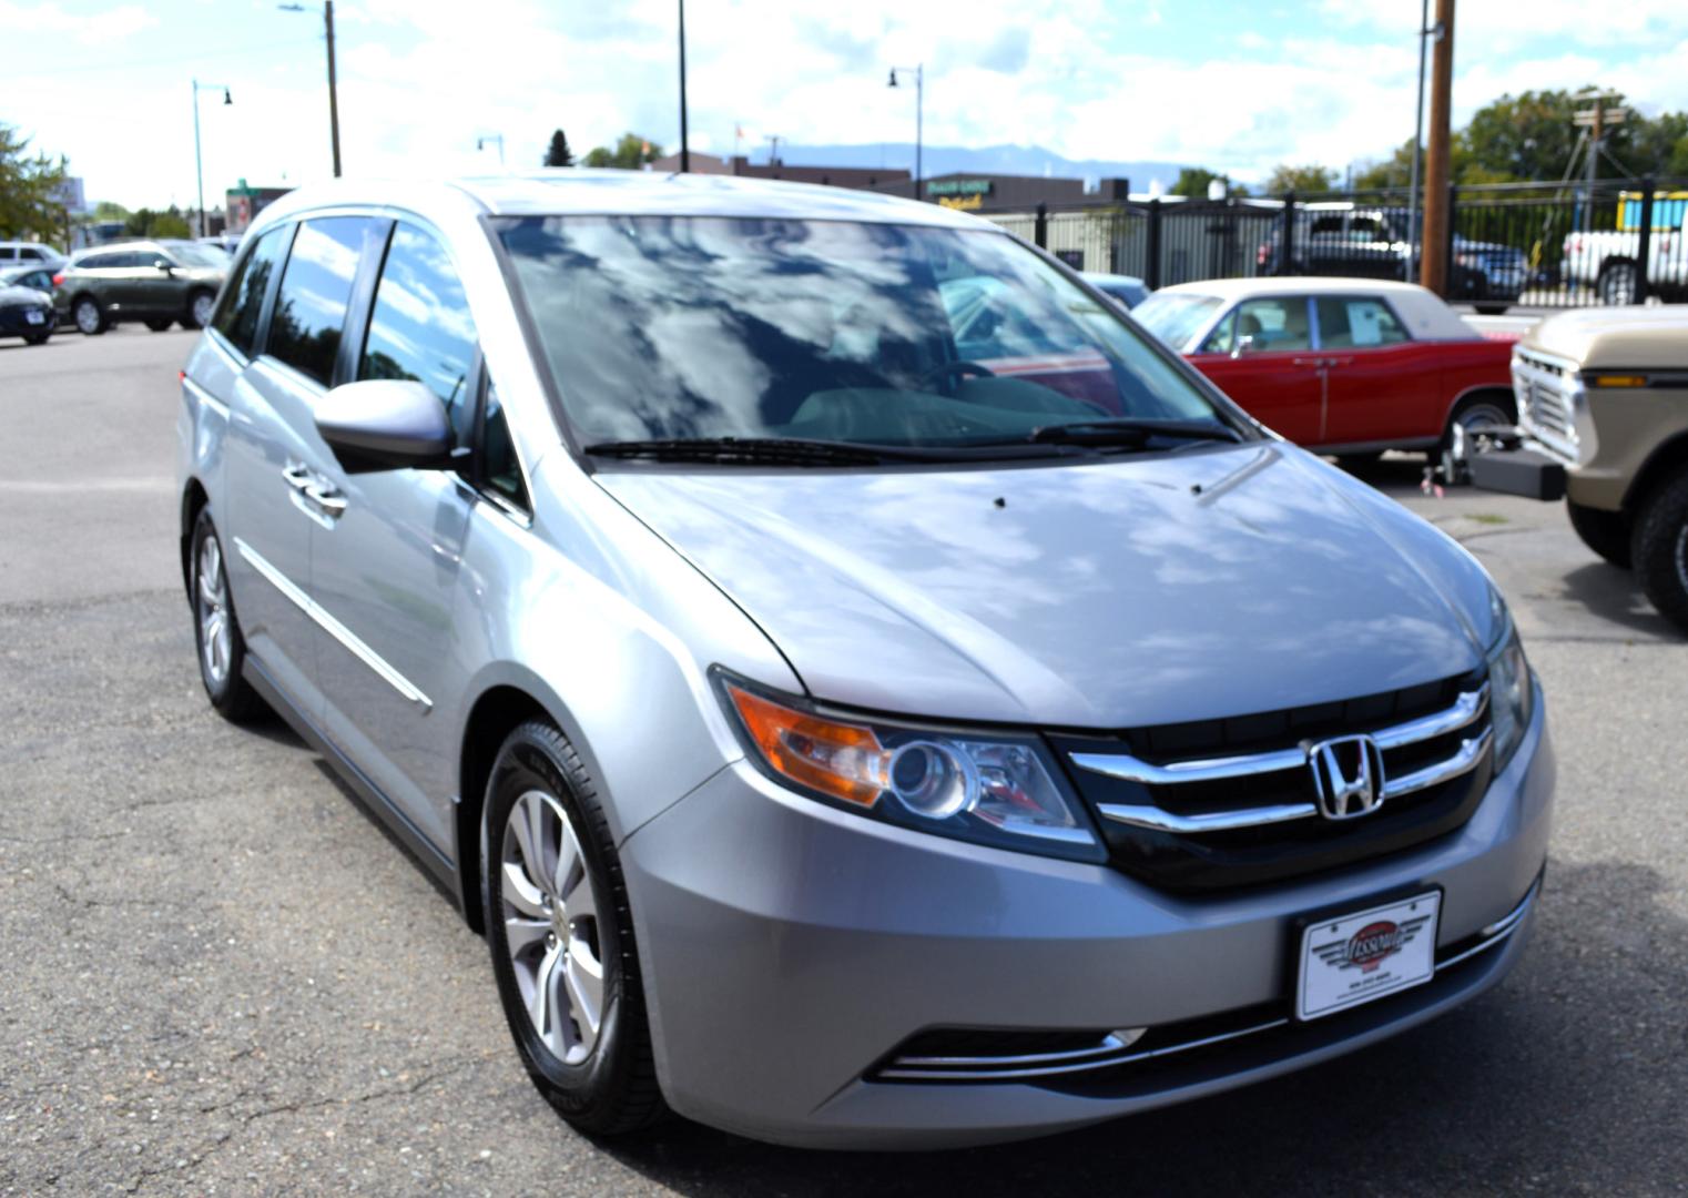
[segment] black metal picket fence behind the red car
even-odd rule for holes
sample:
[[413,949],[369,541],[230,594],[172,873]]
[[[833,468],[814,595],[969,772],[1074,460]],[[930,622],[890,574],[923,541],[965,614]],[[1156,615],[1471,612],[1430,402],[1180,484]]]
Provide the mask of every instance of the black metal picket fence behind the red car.
[[[1688,300],[1688,181],[1450,187],[1447,295],[1479,310]],[[1256,275],[1418,278],[1401,191],[1151,199],[991,214],[1080,270],[1150,287]]]

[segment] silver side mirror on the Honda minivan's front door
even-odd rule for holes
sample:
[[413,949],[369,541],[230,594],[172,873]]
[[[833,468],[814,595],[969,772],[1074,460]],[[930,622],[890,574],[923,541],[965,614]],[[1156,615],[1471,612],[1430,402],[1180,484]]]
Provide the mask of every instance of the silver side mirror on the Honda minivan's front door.
[[344,383],[316,402],[316,425],[348,474],[451,464],[446,405],[422,383]]

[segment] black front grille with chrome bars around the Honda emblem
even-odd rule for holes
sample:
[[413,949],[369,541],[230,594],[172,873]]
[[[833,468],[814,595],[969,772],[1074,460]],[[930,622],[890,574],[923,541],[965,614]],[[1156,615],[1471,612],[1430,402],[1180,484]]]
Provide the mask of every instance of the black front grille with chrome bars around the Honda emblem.
[[[1381,805],[1322,818],[1310,747],[1369,736]],[[1399,852],[1460,827],[1492,773],[1489,688],[1463,675],[1259,715],[1052,737],[1117,869],[1171,891],[1296,877]]]

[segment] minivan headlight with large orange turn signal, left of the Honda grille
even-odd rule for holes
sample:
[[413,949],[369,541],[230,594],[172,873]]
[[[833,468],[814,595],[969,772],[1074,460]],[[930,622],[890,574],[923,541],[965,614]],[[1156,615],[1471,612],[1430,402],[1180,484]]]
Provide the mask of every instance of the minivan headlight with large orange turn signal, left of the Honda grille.
[[716,673],[749,758],[787,786],[888,823],[1077,861],[1106,850],[1036,736],[822,714]]

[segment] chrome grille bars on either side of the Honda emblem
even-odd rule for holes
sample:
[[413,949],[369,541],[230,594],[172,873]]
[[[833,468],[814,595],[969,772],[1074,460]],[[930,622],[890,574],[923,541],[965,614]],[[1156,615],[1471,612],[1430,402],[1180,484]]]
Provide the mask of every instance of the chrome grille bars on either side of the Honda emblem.
[[[1371,737],[1382,751],[1403,749],[1411,744],[1431,741],[1438,736],[1470,727],[1489,707],[1489,683],[1475,690],[1462,692],[1452,707],[1420,715],[1418,719],[1394,724],[1372,732]],[[1467,737],[1453,756],[1423,766],[1409,774],[1386,780],[1382,798],[1399,798],[1430,786],[1452,781],[1474,769],[1482,761],[1492,741],[1492,731],[1484,729],[1480,736]],[[1252,753],[1231,758],[1197,758],[1190,761],[1173,761],[1155,764],[1131,756],[1129,753],[1074,753],[1072,763],[1090,773],[1123,781],[1143,783],[1148,786],[1170,786],[1195,781],[1224,781],[1231,778],[1252,778],[1258,774],[1281,773],[1286,769],[1307,769],[1308,744],[1293,749],[1276,749],[1271,753]],[[1229,832],[1234,828],[1252,828],[1264,823],[1286,823],[1318,815],[1318,807],[1305,803],[1274,803],[1269,807],[1244,807],[1225,812],[1198,812],[1180,815],[1161,807],[1139,803],[1097,803],[1097,810],[1117,823],[1129,823],[1155,832],[1173,832],[1178,835],[1198,835],[1202,832]]]

